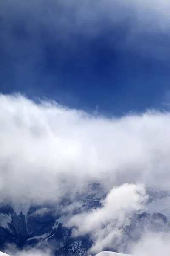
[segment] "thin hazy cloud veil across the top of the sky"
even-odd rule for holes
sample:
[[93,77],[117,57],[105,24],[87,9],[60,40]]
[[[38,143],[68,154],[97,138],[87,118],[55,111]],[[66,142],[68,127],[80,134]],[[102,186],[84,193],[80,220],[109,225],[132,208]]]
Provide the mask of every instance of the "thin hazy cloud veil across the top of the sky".
[[[42,28],[47,29],[47,35],[55,38],[54,41],[62,41],[66,48],[71,47],[76,52],[73,35],[82,35],[89,40],[101,35],[111,26],[113,29],[119,27],[119,30],[126,28],[126,36],[123,40],[117,40],[118,43],[111,36],[110,43],[115,49],[128,48],[142,55],[147,54],[147,57],[164,59],[169,56],[166,40],[161,43],[154,36],[169,35],[169,8],[168,0],[16,0],[15,3],[3,0],[0,15],[6,28],[2,40],[8,38],[8,44],[4,44],[4,47],[9,52],[14,53],[17,47],[23,47],[14,33],[15,26],[23,18],[26,33],[34,38],[29,38],[29,44],[22,48],[28,59],[34,52],[33,59],[28,61],[30,67],[32,62],[44,57]],[[152,36],[153,40],[150,40]],[[22,67],[19,65],[17,68]]]

